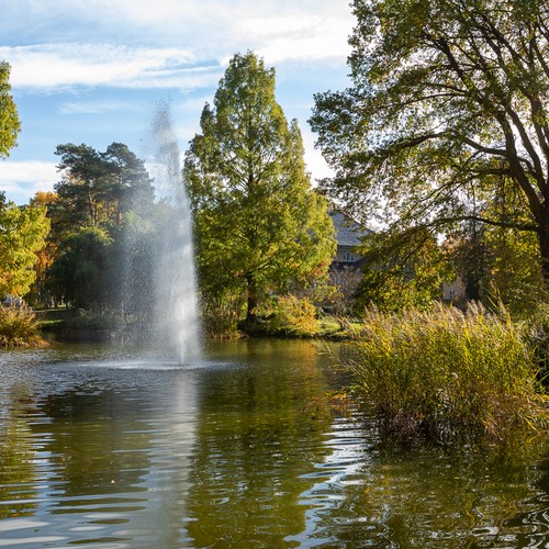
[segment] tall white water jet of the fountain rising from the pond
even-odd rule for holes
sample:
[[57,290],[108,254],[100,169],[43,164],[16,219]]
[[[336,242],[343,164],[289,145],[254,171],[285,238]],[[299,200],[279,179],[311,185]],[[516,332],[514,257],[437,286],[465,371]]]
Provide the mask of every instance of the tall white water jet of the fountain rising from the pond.
[[[152,317],[152,346],[175,352],[180,362],[200,354],[200,328],[192,246],[192,219],[181,178],[179,147],[168,103],[160,103],[152,124],[152,150],[147,168],[154,177],[157,227],[143,231],[130,244],[133,257],[126,265],[126,280],[134,291],[134,310]],[[126,239],[127,240],[127,239]],[[136,243],[141,243],[136,245]],[[146,248],[137,259],[136,249]],[[153,260],[153,265],[143,261]],[[127,259],[126,259],[127,261]],[[147,303],[147,301],[149,303]],[[154,301],[150,303],[150,301]]]

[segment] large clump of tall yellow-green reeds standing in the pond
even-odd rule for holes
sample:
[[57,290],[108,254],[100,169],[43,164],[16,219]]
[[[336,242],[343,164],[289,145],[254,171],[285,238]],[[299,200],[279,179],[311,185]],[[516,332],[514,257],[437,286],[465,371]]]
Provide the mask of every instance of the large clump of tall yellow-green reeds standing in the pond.
[[369,310],[354,365],[357,389],[397,438],[504,439],[547,419],[523,327],[489,314]]

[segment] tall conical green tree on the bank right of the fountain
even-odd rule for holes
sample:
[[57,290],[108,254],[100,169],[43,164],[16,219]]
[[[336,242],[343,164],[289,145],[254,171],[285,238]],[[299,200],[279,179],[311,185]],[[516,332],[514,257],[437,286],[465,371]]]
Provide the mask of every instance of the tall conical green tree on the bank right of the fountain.
[[296,121],[274,99],[274,70],[235,55],[200,120],[183,175],[203,291],[258,302],[325,277],[335,249],[326,201],[311,189]]

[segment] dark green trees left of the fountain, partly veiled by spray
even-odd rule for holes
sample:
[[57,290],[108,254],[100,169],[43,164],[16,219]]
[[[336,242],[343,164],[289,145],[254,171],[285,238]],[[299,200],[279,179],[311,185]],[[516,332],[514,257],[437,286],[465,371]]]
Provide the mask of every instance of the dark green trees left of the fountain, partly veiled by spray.
[[146,321],[158,234],[168,214],[154,202],[143,160],[121,143],[104,153],[69,143],[56,154],[63,177],[47,198],[52,232],[45,287],[74,307]]

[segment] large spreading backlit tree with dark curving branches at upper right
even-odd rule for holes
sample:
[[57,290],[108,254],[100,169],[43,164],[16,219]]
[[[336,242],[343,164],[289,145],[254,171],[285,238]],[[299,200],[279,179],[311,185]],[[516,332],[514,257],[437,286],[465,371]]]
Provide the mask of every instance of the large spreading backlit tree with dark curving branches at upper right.
[[[315,97],[326,192],[393,228],[534,232],[549,279],[549,5],[355,0],[352,87]],[[489,211],[509,189],[519,208]]]

